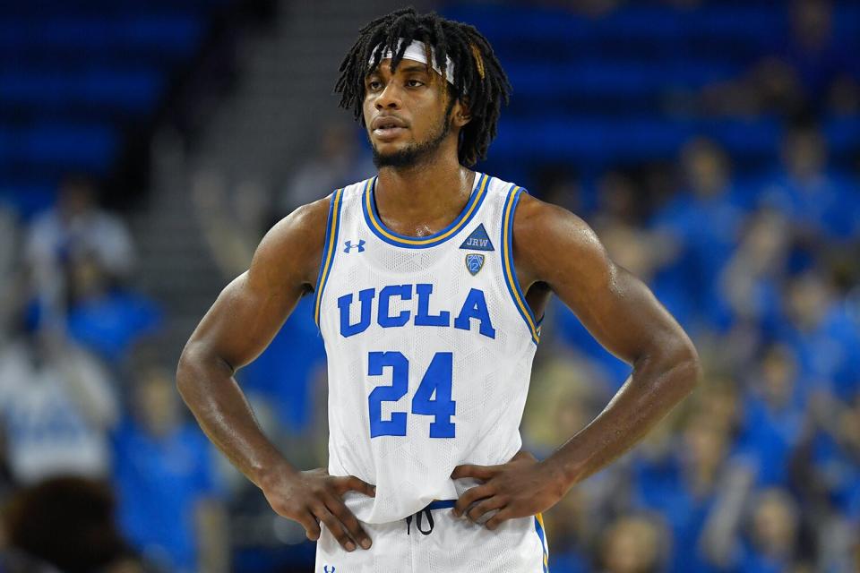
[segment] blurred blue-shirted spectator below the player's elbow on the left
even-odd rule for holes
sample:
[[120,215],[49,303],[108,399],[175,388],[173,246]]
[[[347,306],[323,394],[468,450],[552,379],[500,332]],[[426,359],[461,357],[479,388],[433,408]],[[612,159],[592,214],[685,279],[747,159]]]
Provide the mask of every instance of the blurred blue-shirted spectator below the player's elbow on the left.
[[165,570],[227,571],[227,526],[210,442],[185,421],[171,376],[157,366],[139,368],[132,406],[115,440],[125,535]]

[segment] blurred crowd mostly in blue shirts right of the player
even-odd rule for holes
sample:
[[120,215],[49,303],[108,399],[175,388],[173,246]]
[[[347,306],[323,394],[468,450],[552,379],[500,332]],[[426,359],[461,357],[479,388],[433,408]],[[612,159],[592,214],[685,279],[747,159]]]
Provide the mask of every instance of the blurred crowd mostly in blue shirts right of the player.
[[[595,209],[579,212],[690,332],[705,381],[549,512],[558,569],[857,570],[860,180],[829,167],[813,124],[792,126],[781,163],[761,174],[733,175],[697,138],[677,173],[649,189],[653,177],[610,171],[594,182]],[[548,200],[575,207],[589,194],[545,179]],[[560,304],[547,320],[552,352],[524,426],[545,455],[626,372]]]

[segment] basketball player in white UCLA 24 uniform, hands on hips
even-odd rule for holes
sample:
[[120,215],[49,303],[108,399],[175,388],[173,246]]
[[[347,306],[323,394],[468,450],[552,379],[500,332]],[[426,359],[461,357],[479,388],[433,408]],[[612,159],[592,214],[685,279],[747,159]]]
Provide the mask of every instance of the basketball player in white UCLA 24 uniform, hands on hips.
[[[271,229],[185,346],[179,389],[272,509],[319,540],[317,571],[544,571],[540,512],[690,392],[696,352],[580,218],[469,169],[509,91],[477,30],[400,10],[360,31],[340,72],[378,175]],[[519,425],[551,293],[632,376],[537,461]],[[328,355],[328,470],[291,466],[233,378],[303,295]]]

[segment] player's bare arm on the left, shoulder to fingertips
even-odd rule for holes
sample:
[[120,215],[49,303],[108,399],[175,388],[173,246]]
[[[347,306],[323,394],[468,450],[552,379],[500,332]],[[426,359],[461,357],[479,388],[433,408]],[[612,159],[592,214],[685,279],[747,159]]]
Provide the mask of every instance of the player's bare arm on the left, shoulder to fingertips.
[[314,288],[325,239],[329,199],[281,220],[263,237],[247,272],[219,295],[185,345],[176,384],[210,440],[262,489],[272,509],[320,535],[322,521],[348,551],[370,546],[340,496],[374,494],[357,477],[323,469],[299,472],[260,430],[233,374],[269,346],[298,299]]

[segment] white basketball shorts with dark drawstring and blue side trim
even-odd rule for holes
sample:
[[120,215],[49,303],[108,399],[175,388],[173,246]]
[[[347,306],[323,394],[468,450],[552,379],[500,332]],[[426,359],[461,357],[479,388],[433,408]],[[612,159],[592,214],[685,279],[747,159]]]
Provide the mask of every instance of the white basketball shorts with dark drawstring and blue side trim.
[[495,531],[454,517],[453,501],[434,501],[385,524],[362,523],[369,550],[347,552],[322,526],[317,573],[546,573],[542,517],[509,519]]

